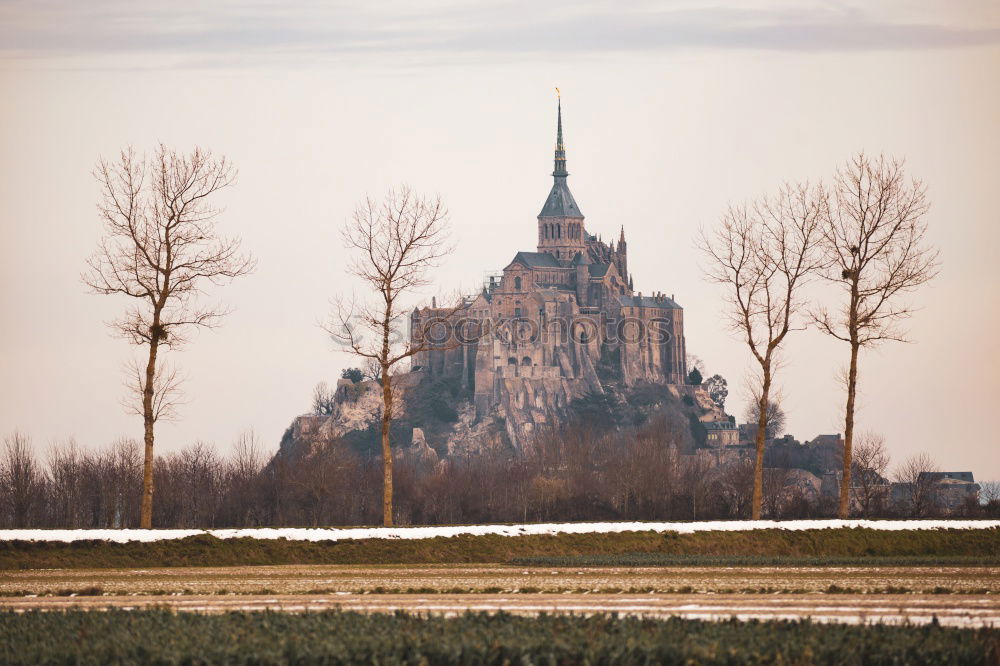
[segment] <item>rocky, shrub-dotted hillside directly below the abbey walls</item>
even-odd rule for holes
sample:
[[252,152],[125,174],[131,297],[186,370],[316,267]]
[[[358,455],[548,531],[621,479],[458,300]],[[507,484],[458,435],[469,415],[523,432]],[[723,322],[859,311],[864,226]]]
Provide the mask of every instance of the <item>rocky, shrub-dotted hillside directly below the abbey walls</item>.
[[[473,396],[457,380],[448,384],[446,378],[434,378],[423,371],[394,377],[396,455],[434,465],[444,457],[475,456],[491,449],[524,451],[540,432],[567,425],[574,418],[573,401],[588,395],[608,395],[611,404],[617,403],[632,413],[629,410],[634,411],[635,406],[629,404],[629,391],[635,387],[602,384],[588,357],[580,354],[580,359],[584,359],[581,372],[572,378],[561,375],[556,367],[497,368],[489,396],[493,406],[486,413],[473,399],[482,395],[482,386],[476,387]],[[651,404],[650,395],[657,394],[681,410],[676,414],[685,427],[689,418],[728,418],[700,387],[647,385],[642,404]],[[281,451],[285,455],[308,455],[340,441],[375,453],[381,414],[382,390],[378,383],[341,380],[332,413],[297,417],[282,441]]]

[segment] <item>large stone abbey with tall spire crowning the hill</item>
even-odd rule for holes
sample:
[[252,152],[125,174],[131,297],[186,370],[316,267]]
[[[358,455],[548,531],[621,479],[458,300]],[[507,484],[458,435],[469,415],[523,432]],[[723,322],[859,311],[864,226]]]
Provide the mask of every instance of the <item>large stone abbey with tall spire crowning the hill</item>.
[[[490,324],[484,336],[413,360],[414,370],[431,376],[460,376],[478,417],[500,405],[508,421],[520,413],[513,439],[574,397],[602,392],[602,382],[677,385],[687,374],[684,311],[661,292],[633,290],[624,226],[616,245],[584,225],[567,183],[561,102],[557,113],[553,183],[538,214],[536,251],[515,254],[502,275],[461,304],[466,320]],[[414,310],[411,335],[446,312],[453,309]]]

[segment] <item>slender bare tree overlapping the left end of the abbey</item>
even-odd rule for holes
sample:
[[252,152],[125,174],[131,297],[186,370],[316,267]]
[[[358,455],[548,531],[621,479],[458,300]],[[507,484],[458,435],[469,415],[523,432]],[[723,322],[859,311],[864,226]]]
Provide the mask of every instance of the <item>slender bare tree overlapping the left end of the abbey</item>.
[[382,383],[382,522],[393,524],[393,370],[401,361],[432,348],[426,336],[405,336],[401,299],[429,284],[428,269],[450,251],[447,211],[440,197],[425,198],[409,187],[390,190],[382,201],[368,197],[343,229],[354,251],[350,271],[376,296],[337,301],[327,331],[352,354],[373,362]]

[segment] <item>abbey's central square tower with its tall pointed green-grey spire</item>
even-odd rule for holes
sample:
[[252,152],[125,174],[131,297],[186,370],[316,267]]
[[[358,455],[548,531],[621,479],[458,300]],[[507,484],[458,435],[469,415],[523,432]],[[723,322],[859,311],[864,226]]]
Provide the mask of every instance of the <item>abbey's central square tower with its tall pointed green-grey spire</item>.
[[587,254],[587,232],[583,228],[583,213],[569,191],[566,178],[566,146],[562,138],[562,100],[556,121],[555,168],[552,189],[538,214],[538,251],[551,254],[561,263],[573,260],[577,253]]

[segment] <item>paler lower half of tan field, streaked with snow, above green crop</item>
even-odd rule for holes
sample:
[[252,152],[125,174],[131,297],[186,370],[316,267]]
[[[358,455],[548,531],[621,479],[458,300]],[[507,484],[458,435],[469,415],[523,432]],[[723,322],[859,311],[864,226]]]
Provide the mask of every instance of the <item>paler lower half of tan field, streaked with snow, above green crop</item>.
[[466,611],[621,615],[724,620],[789,620],[860,624],[926,624],[942,626],[1000,626],[1000,599],[971,595],[857,595],[842,594],[345,594],[228,595],[228,596],[109,596],[18,597],[4,599],[5,609],[103,610],[168,607],[177,611],[280,610],[304,612],[327,609],[368,613],[433,613],[454,616]]

